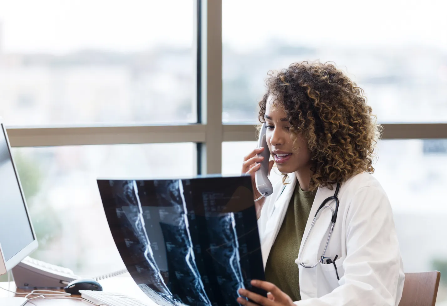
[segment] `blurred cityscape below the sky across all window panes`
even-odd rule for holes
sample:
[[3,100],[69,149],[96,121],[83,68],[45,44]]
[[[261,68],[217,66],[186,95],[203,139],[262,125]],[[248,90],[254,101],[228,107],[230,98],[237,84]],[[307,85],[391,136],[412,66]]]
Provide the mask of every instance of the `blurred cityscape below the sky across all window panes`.
[[[192,48],[8,53],[1,38],[0,27],[0,115],[8,126],[196,121]],[[314,59],[342,67],[365,90],[380,122],[447,122],[445,51],[281,41],[266,46],[250,53],[223,46],[223,122],[255,123],[267,72]],[[224,143],[222,172],[239,174],[254,145]],[[384,140],[377,153],[374,175],[392,203],[405,271],[443,272],[442,305],[447,142]],[[98,176],[187,176],[196,169],[192,143],[14,148],[13,154],[40,243],[33,256],[85,276],[123,265],[102,211]]]

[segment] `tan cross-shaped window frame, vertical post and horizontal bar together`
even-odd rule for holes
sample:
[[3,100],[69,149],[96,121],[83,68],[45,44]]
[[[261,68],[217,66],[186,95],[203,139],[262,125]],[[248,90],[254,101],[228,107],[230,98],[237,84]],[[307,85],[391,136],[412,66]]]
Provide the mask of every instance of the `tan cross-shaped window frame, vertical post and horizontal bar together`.
[[[7,127],[12,147],[197,143],[197,174],[222,172],[222,142],[256,141],[254,125],[222,123],[222,0],[195,1],[197,123]],[[447,138],[446,123],[384,123],[383,139]]]

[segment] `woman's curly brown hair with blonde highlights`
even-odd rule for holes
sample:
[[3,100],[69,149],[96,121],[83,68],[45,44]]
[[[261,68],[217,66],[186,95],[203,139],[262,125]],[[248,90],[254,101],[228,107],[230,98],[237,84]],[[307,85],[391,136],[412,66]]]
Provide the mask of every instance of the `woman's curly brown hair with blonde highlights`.
[[[331,63],[293,63],[270,72],[267,92],[259,102],[259,121],[265,122],[269,96],[281,105],[291,135],[307,139],[313,175],[309,188],[342,183],[362,172],[374,172],[373,151],[380,137],[362,88]],[[295,137],[296,139],[296,137]],[[284,176],[284,180],[287,174]]]

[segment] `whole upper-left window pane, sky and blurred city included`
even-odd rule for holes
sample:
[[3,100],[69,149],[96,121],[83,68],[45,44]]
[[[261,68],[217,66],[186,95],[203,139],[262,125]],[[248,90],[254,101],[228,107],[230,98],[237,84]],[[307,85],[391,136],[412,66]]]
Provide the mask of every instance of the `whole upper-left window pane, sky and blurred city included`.
[[13,126],[196,122],[193,37],[193,0],[0,0],[0,114]]

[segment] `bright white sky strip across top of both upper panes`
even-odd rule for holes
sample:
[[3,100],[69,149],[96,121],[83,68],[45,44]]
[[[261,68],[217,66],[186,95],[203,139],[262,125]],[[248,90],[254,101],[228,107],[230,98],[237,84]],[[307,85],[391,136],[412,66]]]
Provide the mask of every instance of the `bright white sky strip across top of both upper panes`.
[[[193,0],[0,0],[2,48],[63,53],[190,46]],[[447,50],[445,0],[222,0],[223,43],[401,45]],[[355,40],[353,39],[355,38]]]

